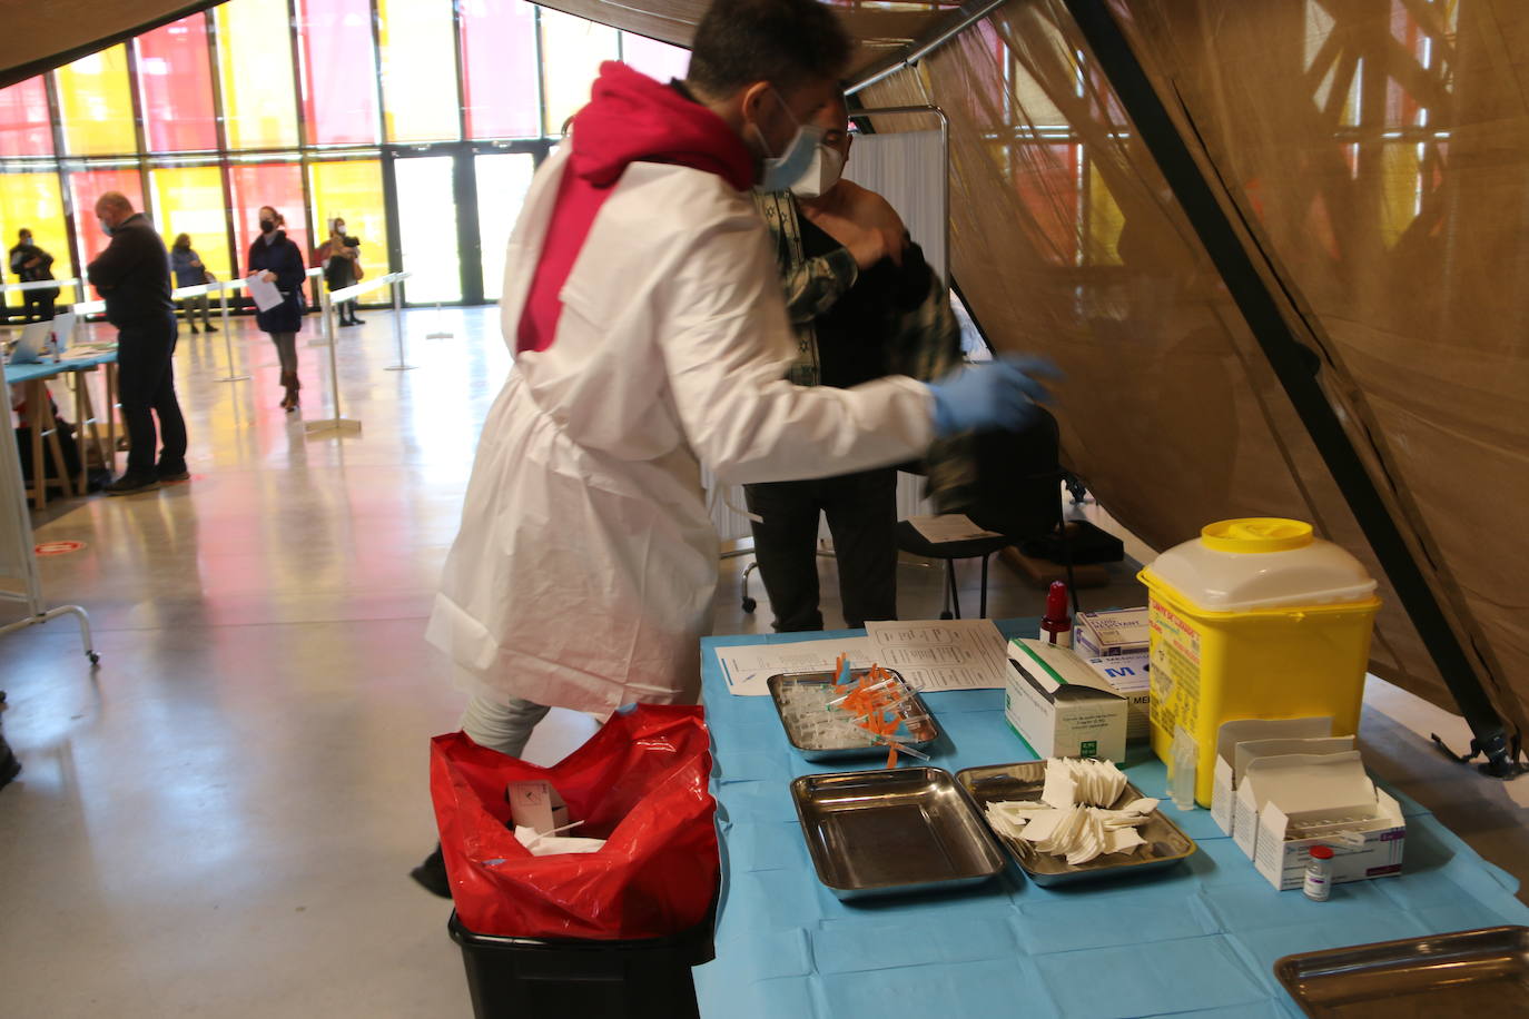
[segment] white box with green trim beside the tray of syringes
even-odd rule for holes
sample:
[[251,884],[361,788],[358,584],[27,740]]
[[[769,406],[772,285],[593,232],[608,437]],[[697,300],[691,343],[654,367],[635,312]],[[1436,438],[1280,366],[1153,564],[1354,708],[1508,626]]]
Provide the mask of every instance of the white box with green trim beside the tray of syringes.
[[1064,648],[1009,642],[1003,713],[1040,758],[1125,759],[1125,698]]

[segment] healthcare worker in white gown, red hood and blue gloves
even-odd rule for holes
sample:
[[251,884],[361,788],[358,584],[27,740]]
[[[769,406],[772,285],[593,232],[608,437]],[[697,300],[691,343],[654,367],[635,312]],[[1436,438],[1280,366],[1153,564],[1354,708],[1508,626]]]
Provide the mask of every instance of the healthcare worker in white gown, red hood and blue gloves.
[[[806,41],[804,41],[806,40]],[[547,706],[693,703],[723,483],[920,457],[1018,426],[1018,362],[934,387],[786,380],[795,339],[748,189],[815,151],[849,40],[813,0],[719,0],[685,82],[607,63],[509,243],[515,365],[489,411],[428,639],[469,692],[466,733],[518,756]]]

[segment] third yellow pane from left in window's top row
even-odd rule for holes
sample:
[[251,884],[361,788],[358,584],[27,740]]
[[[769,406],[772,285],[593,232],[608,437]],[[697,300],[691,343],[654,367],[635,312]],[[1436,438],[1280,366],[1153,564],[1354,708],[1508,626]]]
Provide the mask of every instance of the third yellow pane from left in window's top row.
[[462,137],[451,5],[378,0],[382,110],[390,142]]

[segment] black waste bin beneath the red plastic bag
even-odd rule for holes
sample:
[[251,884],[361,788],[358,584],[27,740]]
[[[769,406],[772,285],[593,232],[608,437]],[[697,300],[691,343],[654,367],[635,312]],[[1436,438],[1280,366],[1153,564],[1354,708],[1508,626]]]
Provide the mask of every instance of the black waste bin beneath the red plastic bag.
[[699,1019],[690,967],[713,958],[713,923],[670,938],[552,941],[474,933],[456,911],[476,1019]]

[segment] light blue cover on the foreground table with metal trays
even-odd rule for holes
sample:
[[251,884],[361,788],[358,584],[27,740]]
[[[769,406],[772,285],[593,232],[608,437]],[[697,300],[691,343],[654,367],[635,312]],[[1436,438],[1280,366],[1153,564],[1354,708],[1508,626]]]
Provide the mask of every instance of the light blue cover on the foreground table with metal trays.
[[[1005,637],[1035,620],[1000,620]],[[787,788],[815,765],[792,750],[768,697],[728,694],[714,648],[833,640],[864,631],[702,642],[722,846],[717,958],[697,967],[711,1019],[979,1019],[1026,1016],[1300,1016],[1272,973],[1294,952],[1495,924],[1529,924],[1518,882],[1431,813],[1399,797],[1399,877],[1338,885],[1326,903],[1277,892],[1211,820],[1165,810],[1200,851],[1130,882],[1047,891],[1011,863],[956,894],[839,901],[818,883]],[[1003,721],[1001,691],[925,695],[945,735],[933,765],[954,773],[1034,755]],[[1128,762],[1147,796],[1156,759]]]

